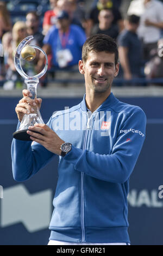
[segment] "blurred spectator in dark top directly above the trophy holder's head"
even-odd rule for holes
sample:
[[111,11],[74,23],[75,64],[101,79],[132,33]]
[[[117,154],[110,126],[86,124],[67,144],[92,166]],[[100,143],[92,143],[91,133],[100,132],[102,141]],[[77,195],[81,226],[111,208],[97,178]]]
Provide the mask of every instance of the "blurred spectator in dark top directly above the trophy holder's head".
[[99,24],[96,24],[93,27],[91,34],[105,34],[116,39],[119,31],[118,26],[112,24],[113,19],[114,16],[111,9],[102,9],[98,15]]

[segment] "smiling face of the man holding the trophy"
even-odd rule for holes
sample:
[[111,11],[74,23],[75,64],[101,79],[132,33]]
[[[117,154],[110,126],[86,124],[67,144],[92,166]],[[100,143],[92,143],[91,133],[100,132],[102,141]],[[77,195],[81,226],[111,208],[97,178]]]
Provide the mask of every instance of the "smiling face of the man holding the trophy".
[[79,61],[79,71],[84,74],[86,90],[95,93],[109,92],[119,64],[115,65],[115,54],[91,51],[85,63]]

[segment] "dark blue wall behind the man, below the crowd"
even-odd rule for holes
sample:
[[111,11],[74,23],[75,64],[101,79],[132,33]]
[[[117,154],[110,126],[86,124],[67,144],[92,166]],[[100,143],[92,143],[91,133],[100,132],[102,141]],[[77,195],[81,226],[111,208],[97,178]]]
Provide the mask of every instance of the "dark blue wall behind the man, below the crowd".
[[[4,212],[14,215],[14,206],[18,198],[14,197],[12,188],[22,185],[30,196],[42,191],[51,191],[50,211],[52,214],[52,199],[57,184],[57,158],[39,171],[30,180],[23,183],[14,181],[11,172],[10,146],[12,133],[16,130],[15,106],[18,98],[0,98],[0,185],[4,188],[4,198],[0,199],[0,244],[1,245],[46,245],[50,231],[47,227],[29,230],[26,221],[4,221]],[[45,122],[54,111],[73,106],[82,99],[43,99],[41,115]],[[129,235],[132,245],[163,245],[162,242],[162,208],[163,199],[158,197],[158,187],[163,185],[163,98],[162,97],[135,97],[121,98],[121,101],[140,106],[147,115],[146,141],[143,145],[139,160],[130,177],[129,203]],[[25,164],[25,163],[24,163]],[[11,188],[11,190],[10,190]],[[5,193],[11,198],[5,199]],[[23,197],[23,196],[22,196]],[[6,206],[5,200],[9,200]],[[16,200],[16,201],[15,201]],[[20,206],[21,207],[21,206]],[[24,209],[28,207],[23,206]],[[30,207],[30,205],[29,205]],[[42,202],[43,207],[43,202]],[[28,209],[28,208],[27,208]],[[20,209],[17,209],[19,211]],[[29,208],[30,210],[30,208]],[[46,211],[46,209],[44,209]],[[28,216],[27,216],[28,218]],[[13,222],[13,223],[12,223]]]

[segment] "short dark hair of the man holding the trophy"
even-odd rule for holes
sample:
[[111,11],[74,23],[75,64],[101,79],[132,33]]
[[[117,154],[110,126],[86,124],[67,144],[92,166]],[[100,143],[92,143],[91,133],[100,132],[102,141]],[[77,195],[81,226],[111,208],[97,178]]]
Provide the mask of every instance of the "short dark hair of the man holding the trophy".
[[90,36],[83,45],[82,60],[86,62],[91,51],[115,54],[115,65],[118,63],[118,48],[114,39],[109,35],[96,34]]

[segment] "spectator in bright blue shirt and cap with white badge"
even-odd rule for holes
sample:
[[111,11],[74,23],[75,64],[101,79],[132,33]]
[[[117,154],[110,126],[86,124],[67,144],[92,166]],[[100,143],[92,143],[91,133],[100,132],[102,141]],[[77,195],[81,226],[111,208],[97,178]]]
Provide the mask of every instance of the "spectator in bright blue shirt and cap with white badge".
[[[70,17],[66,11],[60,11],[57,16],[57,26],[53,26],[45,36],[43,50],[52,52],[52,64],[57,68],[72,67],[78,64],[82,57],[82,46],[86,40],[83,29],[70,25]],[[42,68],[44,57],[40,54],[37,63]]]

